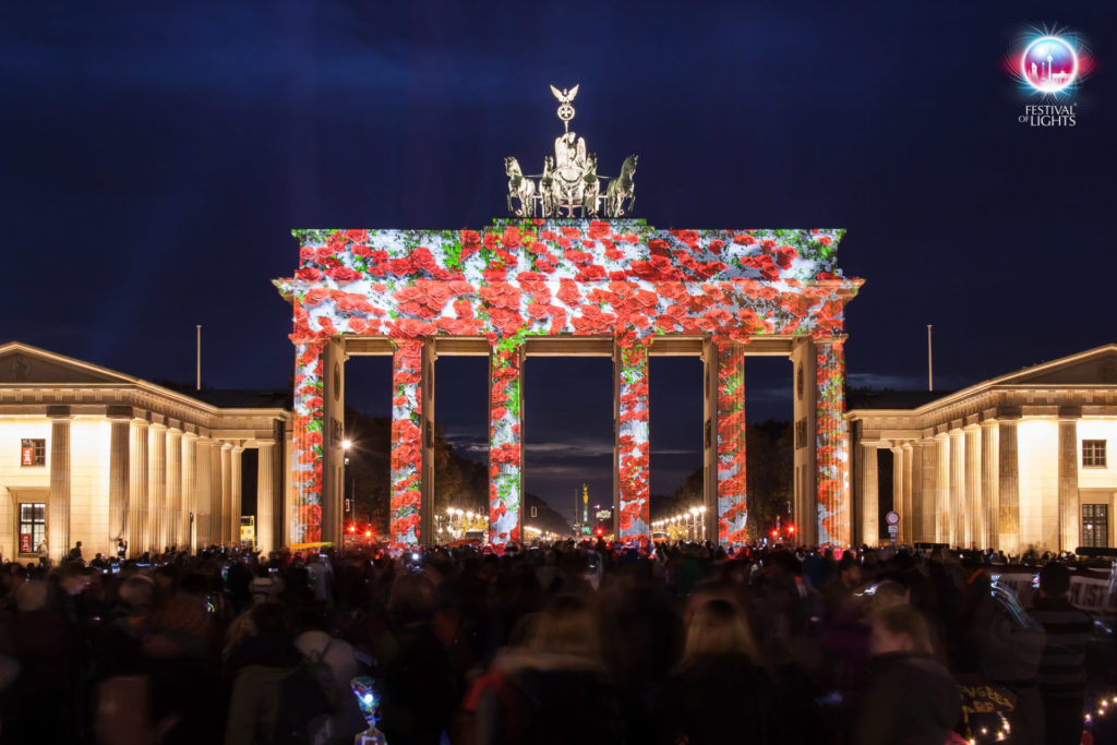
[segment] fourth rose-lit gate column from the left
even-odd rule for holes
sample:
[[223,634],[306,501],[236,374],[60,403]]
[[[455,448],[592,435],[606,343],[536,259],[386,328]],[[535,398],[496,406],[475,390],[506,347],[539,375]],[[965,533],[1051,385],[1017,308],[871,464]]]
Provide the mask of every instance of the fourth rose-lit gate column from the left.
[[614,347],[617,422],[613,468],[617,481],[614,527],[621,541],[651,539],[648,436],[648,345],[626,340]]

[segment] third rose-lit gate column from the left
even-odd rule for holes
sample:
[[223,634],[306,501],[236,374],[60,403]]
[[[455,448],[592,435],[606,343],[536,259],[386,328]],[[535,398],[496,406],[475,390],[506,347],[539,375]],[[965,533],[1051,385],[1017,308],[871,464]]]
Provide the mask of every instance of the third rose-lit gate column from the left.
[[489,357],[489,544],[519,542],[524,472],[524,346],[499,342]]

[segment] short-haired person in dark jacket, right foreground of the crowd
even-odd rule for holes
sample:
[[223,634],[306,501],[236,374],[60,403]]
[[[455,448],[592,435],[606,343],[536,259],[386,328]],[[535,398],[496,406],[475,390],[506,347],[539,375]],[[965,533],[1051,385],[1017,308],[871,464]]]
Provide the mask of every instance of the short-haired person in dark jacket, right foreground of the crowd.
[[923,617],[906,604],[872,617],[869,682],[853,726],[855,745],[943,745],[962,716],[958,691],[932,653]]

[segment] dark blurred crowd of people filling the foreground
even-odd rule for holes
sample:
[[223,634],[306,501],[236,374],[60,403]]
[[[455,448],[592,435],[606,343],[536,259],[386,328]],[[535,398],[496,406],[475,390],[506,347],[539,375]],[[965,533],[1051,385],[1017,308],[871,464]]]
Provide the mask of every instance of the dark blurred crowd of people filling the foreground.
[[1023,608],[946,550],[79,548],[2,566],[0,743],[352,743],[364,675],[390,745],[1069,745],[1115,690],[1066,557]]

